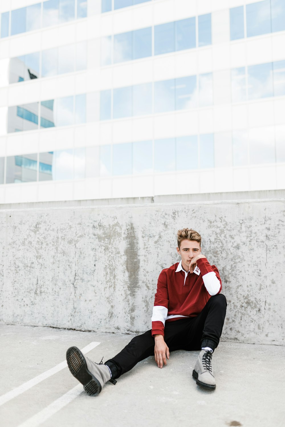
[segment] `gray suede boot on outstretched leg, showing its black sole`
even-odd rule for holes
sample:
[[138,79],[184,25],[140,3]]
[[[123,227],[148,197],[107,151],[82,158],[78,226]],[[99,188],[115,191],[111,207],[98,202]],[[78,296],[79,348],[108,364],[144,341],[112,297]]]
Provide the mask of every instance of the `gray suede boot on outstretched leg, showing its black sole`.
[[[83,356],[77,347],[70,347],[66,352],[68,368],[73,377],[81,384],[89,396],[97,396],[103,385],[111,380],[111,374],[106,365],[94,363],[88,357]],[[115,380],[111,380],[116,383]]]

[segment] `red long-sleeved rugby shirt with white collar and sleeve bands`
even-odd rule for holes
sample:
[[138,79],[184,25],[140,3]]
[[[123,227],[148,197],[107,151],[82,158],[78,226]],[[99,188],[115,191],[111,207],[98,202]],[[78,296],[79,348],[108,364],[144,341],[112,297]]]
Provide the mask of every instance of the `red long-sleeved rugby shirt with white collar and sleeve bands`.
[[[185,284],[184,284],[185,283]],[[164,336],[165,322],[197,316],[212,295],[220,293],[222,281],[216,266],[206,258],[197,260],[193,273],[182,270],[182,264],[162,270],[157,282],[152,320],[152,336]]]

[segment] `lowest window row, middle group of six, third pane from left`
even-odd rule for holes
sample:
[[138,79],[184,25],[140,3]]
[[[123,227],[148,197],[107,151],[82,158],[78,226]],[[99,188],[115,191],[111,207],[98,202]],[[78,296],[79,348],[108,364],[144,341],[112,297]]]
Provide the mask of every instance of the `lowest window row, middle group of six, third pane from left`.
[[139,141],[132,144],[132,173],[153,173],[153,141]]

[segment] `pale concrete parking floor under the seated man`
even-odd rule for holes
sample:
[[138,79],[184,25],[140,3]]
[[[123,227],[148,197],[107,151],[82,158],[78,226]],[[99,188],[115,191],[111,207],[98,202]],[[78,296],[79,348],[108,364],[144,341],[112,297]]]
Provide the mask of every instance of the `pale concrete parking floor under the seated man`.
[[163,369],[149,357],[92,398],[67,367],[29,389],[26,382],[63,362],[71,345],[100,342],[88,357],[104,362],[132,335],[0,325],[0,336],[1,427],[285,425],[285,347],[220,342],[215,391],[192,379],[198,351],[171,353]]

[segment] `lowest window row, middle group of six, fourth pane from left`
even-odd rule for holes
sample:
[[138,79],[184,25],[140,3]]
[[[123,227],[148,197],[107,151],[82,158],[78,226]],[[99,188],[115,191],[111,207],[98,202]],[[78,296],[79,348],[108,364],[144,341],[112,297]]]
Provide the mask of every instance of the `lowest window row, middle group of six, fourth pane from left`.
[[154,141],[154,169],[155,172],[175,170],[175,138]]

